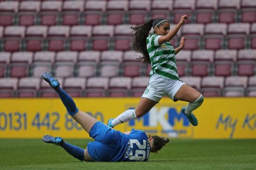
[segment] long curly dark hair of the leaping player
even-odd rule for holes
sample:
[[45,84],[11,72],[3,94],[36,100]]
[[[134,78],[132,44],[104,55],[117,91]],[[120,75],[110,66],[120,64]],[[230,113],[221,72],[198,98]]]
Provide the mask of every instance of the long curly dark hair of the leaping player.
[[[143,56],[140,56],[140,58],[137,58],[140,61],[143,61],[145,64],[150,64],[150,57],[148,55],[147,51],[147,37],[148,33],[150,32],[151,28],[156,26],[158,23],[161,21],[166,20],[164,18],[156,18],[156,19],[151,19],[148,22],[141,24],[139,26],[131,27],[133,30],[132,35],[134,36],[134,50],[135,52],[140,52]],[[166,21],[168,22],[168,21]],[[160,27],[163,23],[157,25],[157,27]]]

